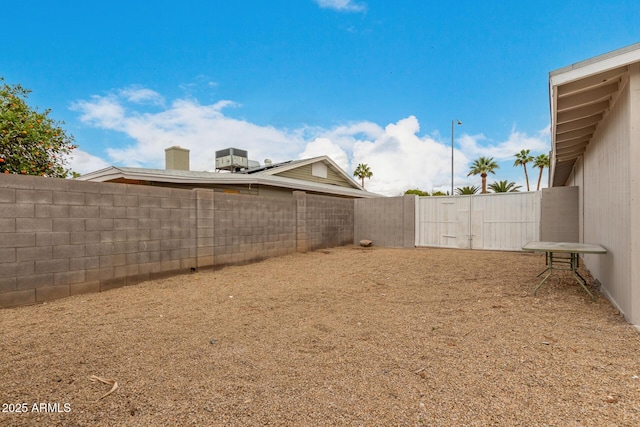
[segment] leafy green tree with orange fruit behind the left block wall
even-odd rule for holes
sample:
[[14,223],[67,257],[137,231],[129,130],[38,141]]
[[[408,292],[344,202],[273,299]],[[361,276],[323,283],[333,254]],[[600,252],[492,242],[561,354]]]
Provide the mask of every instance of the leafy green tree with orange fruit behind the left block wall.
[[31,92],[10,86],[0,77],[0,169],[3,173],[65,178],[73,136],[58,123],[31,109],[26,98]]

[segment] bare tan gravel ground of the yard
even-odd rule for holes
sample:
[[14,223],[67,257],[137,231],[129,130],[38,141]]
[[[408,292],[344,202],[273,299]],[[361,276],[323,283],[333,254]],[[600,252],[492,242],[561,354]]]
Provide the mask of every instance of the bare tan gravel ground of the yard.
[[543,267],[341,247],[0,310],[0,425],[640,425],[640,334]]

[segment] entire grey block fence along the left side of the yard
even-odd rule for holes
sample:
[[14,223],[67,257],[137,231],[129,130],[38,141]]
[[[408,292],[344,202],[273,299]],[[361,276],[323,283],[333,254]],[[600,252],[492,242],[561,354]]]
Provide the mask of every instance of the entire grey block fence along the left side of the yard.
[[0,175],[0,307],[354,241],[354,201]]

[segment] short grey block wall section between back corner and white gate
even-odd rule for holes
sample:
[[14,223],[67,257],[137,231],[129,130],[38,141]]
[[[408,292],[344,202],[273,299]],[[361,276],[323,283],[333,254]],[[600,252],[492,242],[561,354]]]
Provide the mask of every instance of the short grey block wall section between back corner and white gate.
[[356,199],[354,243],[362,239],[376,246],[415,247],[416,196]]

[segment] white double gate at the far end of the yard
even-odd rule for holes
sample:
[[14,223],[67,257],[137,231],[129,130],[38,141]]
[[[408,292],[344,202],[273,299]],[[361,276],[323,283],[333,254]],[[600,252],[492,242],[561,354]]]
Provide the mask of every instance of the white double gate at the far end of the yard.
[[420,197],[416,246],[520,250],[539,240],[541,194]]

